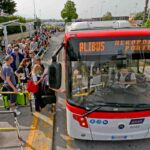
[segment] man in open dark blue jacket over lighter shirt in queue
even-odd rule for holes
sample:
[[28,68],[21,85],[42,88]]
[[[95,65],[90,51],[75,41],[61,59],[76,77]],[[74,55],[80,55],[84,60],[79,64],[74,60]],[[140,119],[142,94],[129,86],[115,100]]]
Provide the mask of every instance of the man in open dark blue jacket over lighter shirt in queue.
[[13,63],[11,64],[11,67],[14,71],[16,71],[20,63],[22,62],[24,56],[21,53],[19,53],[18,46],[14,47],[14,52],[11,54],[11,56],[13,57]]

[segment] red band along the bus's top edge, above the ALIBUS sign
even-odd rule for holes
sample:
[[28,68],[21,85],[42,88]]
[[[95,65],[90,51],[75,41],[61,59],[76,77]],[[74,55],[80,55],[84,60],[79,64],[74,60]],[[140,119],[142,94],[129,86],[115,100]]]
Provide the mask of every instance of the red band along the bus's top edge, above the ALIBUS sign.
[[65,33],[65,42],[72,38],[114,38],[114,37],[132,37],[132,36],[150,36],[150,29],[146,28],[122,28],[122,29],[103,29],[103,30],[80,30]]

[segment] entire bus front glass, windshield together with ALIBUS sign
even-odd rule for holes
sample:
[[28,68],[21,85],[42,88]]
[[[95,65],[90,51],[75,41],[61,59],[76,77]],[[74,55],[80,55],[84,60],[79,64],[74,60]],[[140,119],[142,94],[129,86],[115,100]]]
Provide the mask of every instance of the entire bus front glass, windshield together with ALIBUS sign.
[[102,111],[150,109],[149,36],[113,39],[107,33],[68,41],[68,102],[89,110],[107,104]]

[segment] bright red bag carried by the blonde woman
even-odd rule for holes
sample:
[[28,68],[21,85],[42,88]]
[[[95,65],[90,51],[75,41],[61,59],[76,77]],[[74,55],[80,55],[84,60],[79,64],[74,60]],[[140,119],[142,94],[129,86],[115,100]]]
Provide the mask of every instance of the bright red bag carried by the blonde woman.
[[27,91],[28,92],[32,92],[32,93],[36,93],[39,90],[39,86],[36,85],[32,80],[28,80],[27,81]]

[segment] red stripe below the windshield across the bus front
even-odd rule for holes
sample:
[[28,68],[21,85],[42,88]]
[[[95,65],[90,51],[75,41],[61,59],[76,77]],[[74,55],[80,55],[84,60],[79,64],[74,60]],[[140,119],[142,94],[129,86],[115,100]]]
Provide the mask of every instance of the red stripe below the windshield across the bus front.
[[[70,104],[66,104],[67,109],[73,113],[78,115],[83,115],[87,111]],[[136,111],[136,112],[93,112],[89,114],[88,118],[104,118],[104,119],[127,119],[127,118],[142,118],[149,117],[150,110],[146,111]]]

